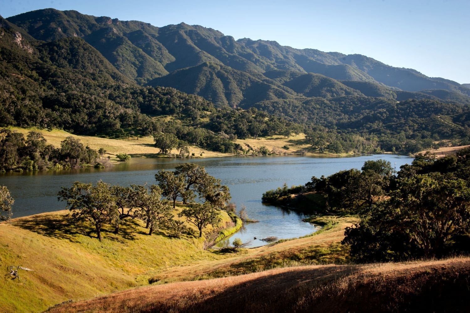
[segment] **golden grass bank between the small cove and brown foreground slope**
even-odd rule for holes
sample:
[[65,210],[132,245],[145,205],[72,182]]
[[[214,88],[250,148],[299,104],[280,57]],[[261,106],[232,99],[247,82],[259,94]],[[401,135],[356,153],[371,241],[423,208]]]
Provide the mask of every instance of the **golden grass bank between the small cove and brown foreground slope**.
[[241,275],[283,266],[345,264],[349,261],[348,248],[340,242],[345,237],[345,227],[357,220],[356,217],[338,217],[337,223],[318,235],[245,249],[210,263],[195,262],[188,266],[164,269],[151,280],[167,283]]

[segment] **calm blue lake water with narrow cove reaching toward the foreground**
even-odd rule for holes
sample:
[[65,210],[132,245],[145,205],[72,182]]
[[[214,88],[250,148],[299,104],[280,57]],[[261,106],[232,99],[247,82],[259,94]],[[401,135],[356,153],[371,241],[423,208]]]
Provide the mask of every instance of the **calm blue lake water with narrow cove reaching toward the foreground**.
[[[102,180],[113,185],[155,184],[159,169],[174,169],[180,163],[193,162],[204,166],[213,177],[230,188],[232,202],[237,210],[243,204],[248,217],[259,220],[248,224],[220,243],[241,238],[251,240],[251,247],[266,244],[261,238],[275,236],[279,239],[303,236],[314,231],[314,225],[302,222],[305,215],[261,203],[261,196],[270,189],[287,185],[303,185],[312,176],[331,175],[339,170],[360,169],[365,161],[384,159],[396,169],[413,159],[399,155],[367,155],[348,158],[307,156],[223,157],[208,159],[132,159],[110,169],[74,169],[38,173],[8,173],[0,175],[0,185],[6,185],[15,199],[14,216],[65,209],[65,202],[57,201],[61,186],[71,186],[74,181],[96,183]],[[234,237],[235,236],[235,237]],[[258,238],[253,240],[253,238]]]

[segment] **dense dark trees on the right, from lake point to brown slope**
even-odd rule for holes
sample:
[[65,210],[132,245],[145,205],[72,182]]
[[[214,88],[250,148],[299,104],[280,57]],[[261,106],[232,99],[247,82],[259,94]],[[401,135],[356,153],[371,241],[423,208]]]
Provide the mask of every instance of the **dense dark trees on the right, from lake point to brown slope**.
[[[310,201],[303,208],[312,213],[358,214],[360,222],[346,228],[343,243],[359,262],[444,257],[470,252],[469,181],[465,148],[442,158],[418,154],[397,173],[388,161],[366,161],[361,170],[268,191],[263,201],[299,206],[288,200],[298,194],[294,198]],[[321,201],[311,201],[312,195]]]

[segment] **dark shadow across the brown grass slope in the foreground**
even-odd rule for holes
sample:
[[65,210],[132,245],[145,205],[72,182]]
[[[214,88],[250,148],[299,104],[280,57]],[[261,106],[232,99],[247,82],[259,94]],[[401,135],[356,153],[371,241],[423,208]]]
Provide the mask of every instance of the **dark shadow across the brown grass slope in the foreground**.
[[[393,266],[393,265],[391,265]],[[462,265],[461,265],[462,266]],[[293,268],[261,274],[190,303],[191,312],[468,312],[470,269],[442,265],[373,273],[370,265]],[[285,269],[282,269],[285,271]],[[384,268],[387,272],[387,269]],[[226,284],[233,282],[228,281]],[[217,288],[214,288],[217,289]],[[188,301],[189,300],[189,301]],[[196,303],[191,303],[191,300]],[[165,311],[165,308],[156,308]]]

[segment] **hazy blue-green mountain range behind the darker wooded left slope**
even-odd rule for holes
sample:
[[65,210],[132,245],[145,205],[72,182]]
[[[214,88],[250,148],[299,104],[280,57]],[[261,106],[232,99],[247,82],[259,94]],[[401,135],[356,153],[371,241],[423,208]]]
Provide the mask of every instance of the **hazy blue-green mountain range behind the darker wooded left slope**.
[[358,54],[235,40],[199,25],[156,27],[55,9],[7,20],[36,40],[83,38],[128,79],[177,88],[214,104],[255,106],[262,100],[359,94],[469,102],[470,88],[452,80],[427,77]]

